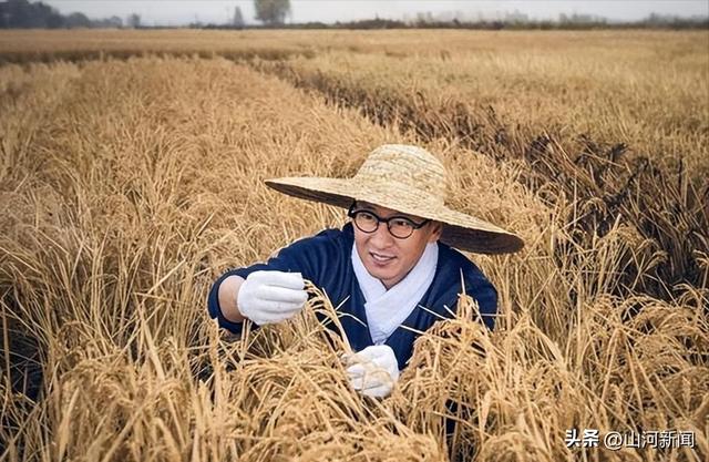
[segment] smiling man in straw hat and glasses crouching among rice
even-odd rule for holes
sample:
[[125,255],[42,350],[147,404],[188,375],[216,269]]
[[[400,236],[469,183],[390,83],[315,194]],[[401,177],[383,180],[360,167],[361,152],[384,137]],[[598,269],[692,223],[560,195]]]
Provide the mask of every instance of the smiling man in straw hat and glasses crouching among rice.
[[523,242],[448,208],[445,168],[425,150],[382,145],[352,178],[289,177],[266,184],[349,208],[351,223],[297,240],[266,264],[220,276],[208,298],[209,315],[219,326],[240,332],[246,319],[263,326],[291,318],[308,298],[304,279],[309,279],[350,315],[340,322],[357,355],[343,359],[353,388],[371,397],[391,392],[417,332],[450,318],[463,290],[493,328],[495,288],[451,246],[502,254],[518,250]]

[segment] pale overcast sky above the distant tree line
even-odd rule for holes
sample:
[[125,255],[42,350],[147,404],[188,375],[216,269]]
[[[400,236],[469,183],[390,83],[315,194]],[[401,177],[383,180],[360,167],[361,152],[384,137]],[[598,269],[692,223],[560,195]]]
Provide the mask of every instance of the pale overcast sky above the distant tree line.
[[[247,23],[254,20],[253,0],[44,0],[62,13],[81,11],[90,18],[119,16],[132,12],[141,16],[145,24],[177,25],[192,21],[227,22],[239,7]],[[608,19],[635,20],[657,12],[681,17],[708,16],[709,0],[291,0],[289,22],[350,21],[378,16],[387,19],[415,18],[418,12],[454,14],[461,19],[480,16],[494,19],[515,10],[531,19],[552,19],[559,13],[587,13]]]

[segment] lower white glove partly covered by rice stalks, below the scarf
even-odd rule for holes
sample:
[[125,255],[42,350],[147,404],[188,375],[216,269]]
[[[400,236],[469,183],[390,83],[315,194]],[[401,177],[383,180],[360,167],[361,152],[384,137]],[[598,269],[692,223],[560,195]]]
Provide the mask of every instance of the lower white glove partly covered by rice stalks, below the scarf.
[[354,390],[372,398],[391,393],[399,380],[399,362],[387,345],[373,345],[354,355],[343,355],[345,367]]

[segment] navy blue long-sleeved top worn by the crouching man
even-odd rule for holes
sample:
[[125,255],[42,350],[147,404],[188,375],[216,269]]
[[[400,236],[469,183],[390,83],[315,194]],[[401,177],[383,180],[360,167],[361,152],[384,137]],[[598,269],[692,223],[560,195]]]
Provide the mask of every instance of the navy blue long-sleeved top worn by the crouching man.
[[[258,270],[278,270],[300,273],[317,287],[323,289],[339,311],[353,315],[341,316],[340,322],[354,351],[360,351],[373,345],[367,327],[364,296],[357,283],[352,268],[351,251],[354,243],[352,224],[346,224],[342,229],[325,229],[315,236],[296,240],[282,248],[276,257],[265,264],[256,264],[246,268],[230,269],[222,275],[212,286],[208,298],[208,310],[212,318],[217,318],[219,326],[232,332],[242,331],[242,322],[230,322],[219,308],[219,285],[229,276],[246,277]],[[440,317],[450,318],[458,307],[459,294],[462,294],[461,274],[465,281],[465,294],[473,297],[480,307],[484,324],[492,329],[497,312],[497,292],[480,269],[463,254],[439,242],[439,260],[431,287],[424,294],[419,305],[402,324],[418,331],[425,331]],[[349,297],[349,298],[348,298]],[[341,306],[340,306],[341,304]],[[448,309],[445,308],[448,307]],[[433,315],[430,311],[435,312]],[[362,325],[363,324],[363,325]],[[332,322],[328,327],[336,329]],[[405,328],[397,328],[387,339],[394,351],[399,368],[403,369],[411,357],[413,341],[419,335]]]

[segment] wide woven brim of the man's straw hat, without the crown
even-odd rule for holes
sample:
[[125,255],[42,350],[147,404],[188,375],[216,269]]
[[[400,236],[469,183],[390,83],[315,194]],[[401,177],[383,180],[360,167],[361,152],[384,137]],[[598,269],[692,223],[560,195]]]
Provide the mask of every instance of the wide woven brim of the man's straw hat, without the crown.
[[289,196],[349,208],[352,201],[366,201],[408,215],[440,222],[440,240],[451,247],[476,254],[508,254],[524,242],[491,223],[446,207],[429,197],[395,194],[389,184],[362,184],[357,178],[284,177],[267,179],[266,185]]

